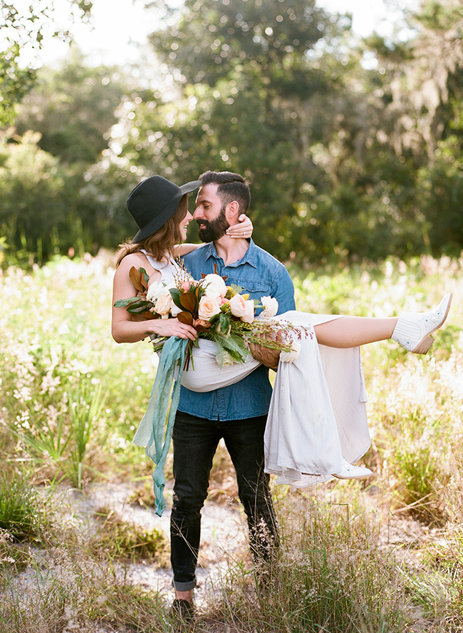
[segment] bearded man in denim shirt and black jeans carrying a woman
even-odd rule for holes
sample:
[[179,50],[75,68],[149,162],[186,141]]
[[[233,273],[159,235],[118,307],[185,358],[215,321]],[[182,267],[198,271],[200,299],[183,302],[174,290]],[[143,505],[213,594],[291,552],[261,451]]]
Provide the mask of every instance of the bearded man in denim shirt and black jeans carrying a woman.
[[[294,309],[294,289],[283,264],[252,240],[232,239],[227,228],[246,213],[251,196],[244,177],[208,171],[199,177],[198,235],[209,242],[184,257],[194,279],[216,272],[249,292],[250,299],[275,297],[279,313]],[[237,384],[197,393],[182,387],[175,426],[174,501],[171,515],[171,562],[176,599],[172,608],[192,613],[192,593],[201,530],[200,510],[207,496],[209,473],[217,444],[224,438],[236,470],[239,498],[246,512],[254,560],[268,560],[276,541],[269,476],[264,473],[264,430],[271,385],[259,366]]]

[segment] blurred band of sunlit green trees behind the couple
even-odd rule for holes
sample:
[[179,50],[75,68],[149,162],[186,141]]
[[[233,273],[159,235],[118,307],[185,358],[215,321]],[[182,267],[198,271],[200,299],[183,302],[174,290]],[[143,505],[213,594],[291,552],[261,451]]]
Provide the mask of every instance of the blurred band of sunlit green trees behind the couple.
[[[156,5],[165,7],[150,36],[156,86],[129,87],[122,71],[77,56],[16,93],[22,105],[4,152],[32,143],[58,160],[68,190],[67,209],[54,211],[68,218],[59,249],[78,240],[111,247],[135,232],[124,207],[140,178],[181,184],[215,169],[249,178],[254,238],[280,259],[461,252],[458,0],[423,1],[408,16],[410,41],[362,42],[349,16],[315,0]],[[7,239],[19,247],[26,232],[37,249],[33,225],[16,222],[11,233],[11,215],[0,212]],[[42,252],[56,248],[43,242]]]

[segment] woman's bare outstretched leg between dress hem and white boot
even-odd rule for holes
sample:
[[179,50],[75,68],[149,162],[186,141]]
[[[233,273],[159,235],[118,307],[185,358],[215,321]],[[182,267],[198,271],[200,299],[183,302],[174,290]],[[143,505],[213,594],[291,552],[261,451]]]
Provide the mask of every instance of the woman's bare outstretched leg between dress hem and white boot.
[[317,341],[327,347],[358,347],[390,339],[397,317],[340,317],[313,327]]

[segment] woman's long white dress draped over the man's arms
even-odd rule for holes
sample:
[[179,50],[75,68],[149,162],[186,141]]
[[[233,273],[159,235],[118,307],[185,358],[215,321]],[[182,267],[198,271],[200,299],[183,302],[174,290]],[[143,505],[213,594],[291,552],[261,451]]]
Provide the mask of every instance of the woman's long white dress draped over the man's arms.
[[[176,264],[160,263],[147,255],[162,282],[174,280]],[[285,312],[275,317],[284,324],[303,326],[308,336],[293,363],[279,361],[265,431],[265,470],[277,483],[298,487],[332,478],[341,470],[341,456],[350,463],[368,451],[370,434],[360,348],[319,345],[313,326],[340,317]],[[239,382],[259,366],[246,363],[219,368],[217,346],[201,339],[193,348],[193,365],[182,372],[181,384],[192,391],[212,391]]]

